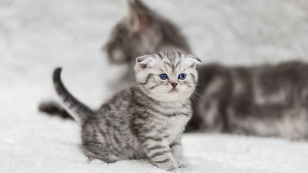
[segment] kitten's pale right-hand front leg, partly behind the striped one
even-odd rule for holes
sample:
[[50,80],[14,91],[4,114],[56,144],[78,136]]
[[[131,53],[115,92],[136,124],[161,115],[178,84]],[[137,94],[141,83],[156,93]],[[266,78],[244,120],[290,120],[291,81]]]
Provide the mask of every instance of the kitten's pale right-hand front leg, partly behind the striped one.
[[182,150],[182,134],[177,135],[177,138],[170,144],[170,149],[173,157],[177,161],[179,167],[187,167],[183,160],[183,150]]

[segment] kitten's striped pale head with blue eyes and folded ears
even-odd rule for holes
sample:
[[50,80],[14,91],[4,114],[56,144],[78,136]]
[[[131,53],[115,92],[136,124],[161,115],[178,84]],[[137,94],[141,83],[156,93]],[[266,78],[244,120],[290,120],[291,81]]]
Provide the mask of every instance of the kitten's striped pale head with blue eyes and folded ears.
[[164,51],[136,58],[136,81],[151,98],[163,101],[188,99],[197,83],[198,57]]

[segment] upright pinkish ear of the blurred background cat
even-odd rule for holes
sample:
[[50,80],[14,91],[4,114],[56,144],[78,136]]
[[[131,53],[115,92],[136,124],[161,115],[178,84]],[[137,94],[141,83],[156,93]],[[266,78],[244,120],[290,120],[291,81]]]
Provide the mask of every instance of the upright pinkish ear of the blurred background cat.
[[141,31],[150,25],[151,10],[140,0],[128,0],[130,24],[134,31]]

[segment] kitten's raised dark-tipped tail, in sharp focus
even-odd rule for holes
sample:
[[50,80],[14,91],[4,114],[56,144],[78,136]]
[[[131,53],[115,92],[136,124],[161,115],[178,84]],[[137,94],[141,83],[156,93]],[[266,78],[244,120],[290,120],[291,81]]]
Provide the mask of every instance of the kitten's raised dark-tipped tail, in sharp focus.
[[88,106],[82,104],[82,102],[78,101],[75,96],[72,96],[72,94],[67,91],[61,81],[61,71],[62,68],[57,67],[53,72],[53,84],[55,86],[55,91],[57,91],[57,95],[60,96],[62,103],[75,121],[82,123],[87,116],[93,115],[94,111],[92,111],[92,109]]

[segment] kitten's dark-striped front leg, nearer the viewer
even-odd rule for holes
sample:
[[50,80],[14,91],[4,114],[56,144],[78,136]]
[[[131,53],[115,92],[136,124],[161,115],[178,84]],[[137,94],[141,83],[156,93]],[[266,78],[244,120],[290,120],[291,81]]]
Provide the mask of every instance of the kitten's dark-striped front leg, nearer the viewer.
[[150,162],[162,169],[172,171],[177,169],[177,161],[172,156],[169,145],[170,143],[163,138],[145,137],[143,150]]

